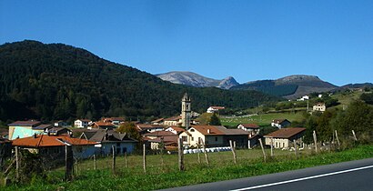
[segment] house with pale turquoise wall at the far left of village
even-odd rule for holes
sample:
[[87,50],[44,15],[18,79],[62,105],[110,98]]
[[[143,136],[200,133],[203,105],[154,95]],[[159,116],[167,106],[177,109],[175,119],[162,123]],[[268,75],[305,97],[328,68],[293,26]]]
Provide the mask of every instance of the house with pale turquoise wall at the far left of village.
[[[9,140],[14,140],[15,138],[24,138],[27,136],[33,136],[35,134],[43,134],[44,129],[40,126],[39,121],[15,121],[9,126]],[[39,126],[35,128],[36,126]]]

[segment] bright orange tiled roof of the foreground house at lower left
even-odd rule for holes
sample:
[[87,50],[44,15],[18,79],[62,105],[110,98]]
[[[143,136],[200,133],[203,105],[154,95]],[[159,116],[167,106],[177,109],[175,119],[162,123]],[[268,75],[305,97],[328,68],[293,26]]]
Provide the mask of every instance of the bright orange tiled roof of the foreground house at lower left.
[[13,146],[25,147],[44,147],[44,146],[93,146],[96,142],[88,141],[86,139],[73,138],[70,136],[29,136],[25,138],[17,138],[13,140]]

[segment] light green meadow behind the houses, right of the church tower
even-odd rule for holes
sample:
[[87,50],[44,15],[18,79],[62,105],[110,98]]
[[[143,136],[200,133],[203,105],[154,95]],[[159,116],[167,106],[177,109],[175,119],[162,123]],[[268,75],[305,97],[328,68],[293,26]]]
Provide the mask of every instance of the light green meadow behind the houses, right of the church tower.
[[303,119],[302,112],[286,113],[270,113],[260,114],[258,116],[246,116],[246,117],[235,117],[235,118],[220,118],[223,126],[237,126],[238,124],[257,124],[258,126],[268,126],[271,124],[273,119],[287,119],[290,122],[301,121]]

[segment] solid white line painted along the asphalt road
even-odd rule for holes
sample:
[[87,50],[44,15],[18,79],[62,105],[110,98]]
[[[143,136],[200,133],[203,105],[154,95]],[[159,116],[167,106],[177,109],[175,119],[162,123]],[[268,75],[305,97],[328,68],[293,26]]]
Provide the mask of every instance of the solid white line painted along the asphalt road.
[[293,182],[298,182],[298,181],[302,181],[302,180],[308,180],[308,179],[313,179],[313,178],[318,178],[318,177],[323,177],[323,176],[333,176],[333,175],[353,172],[353,171],[357,171],[357,170],[363,170],[363,169],[372,168],[372,167],[373,166],[363,166],[363,167],[352,168],[352,169],[348,169],[348,170],[337,171],[337,172],[333,172],[333,173],[327,173],[327,174],[323,174],[323,175],[302,177],[302,178],[297,178],[297,179],[293,179],[293,180],[281,181],[281,182],[277,182],[277,183],[270,183],[270,184],[266,184],[266,185],[244,187],[244,188],[239,188],[239,189],[235,189],[235,190],[232,190],[232,191],[251,190],[251,189],[267,187],[267,186],[284,185],[284,184],[287,184],[287,183],[293,183]]

